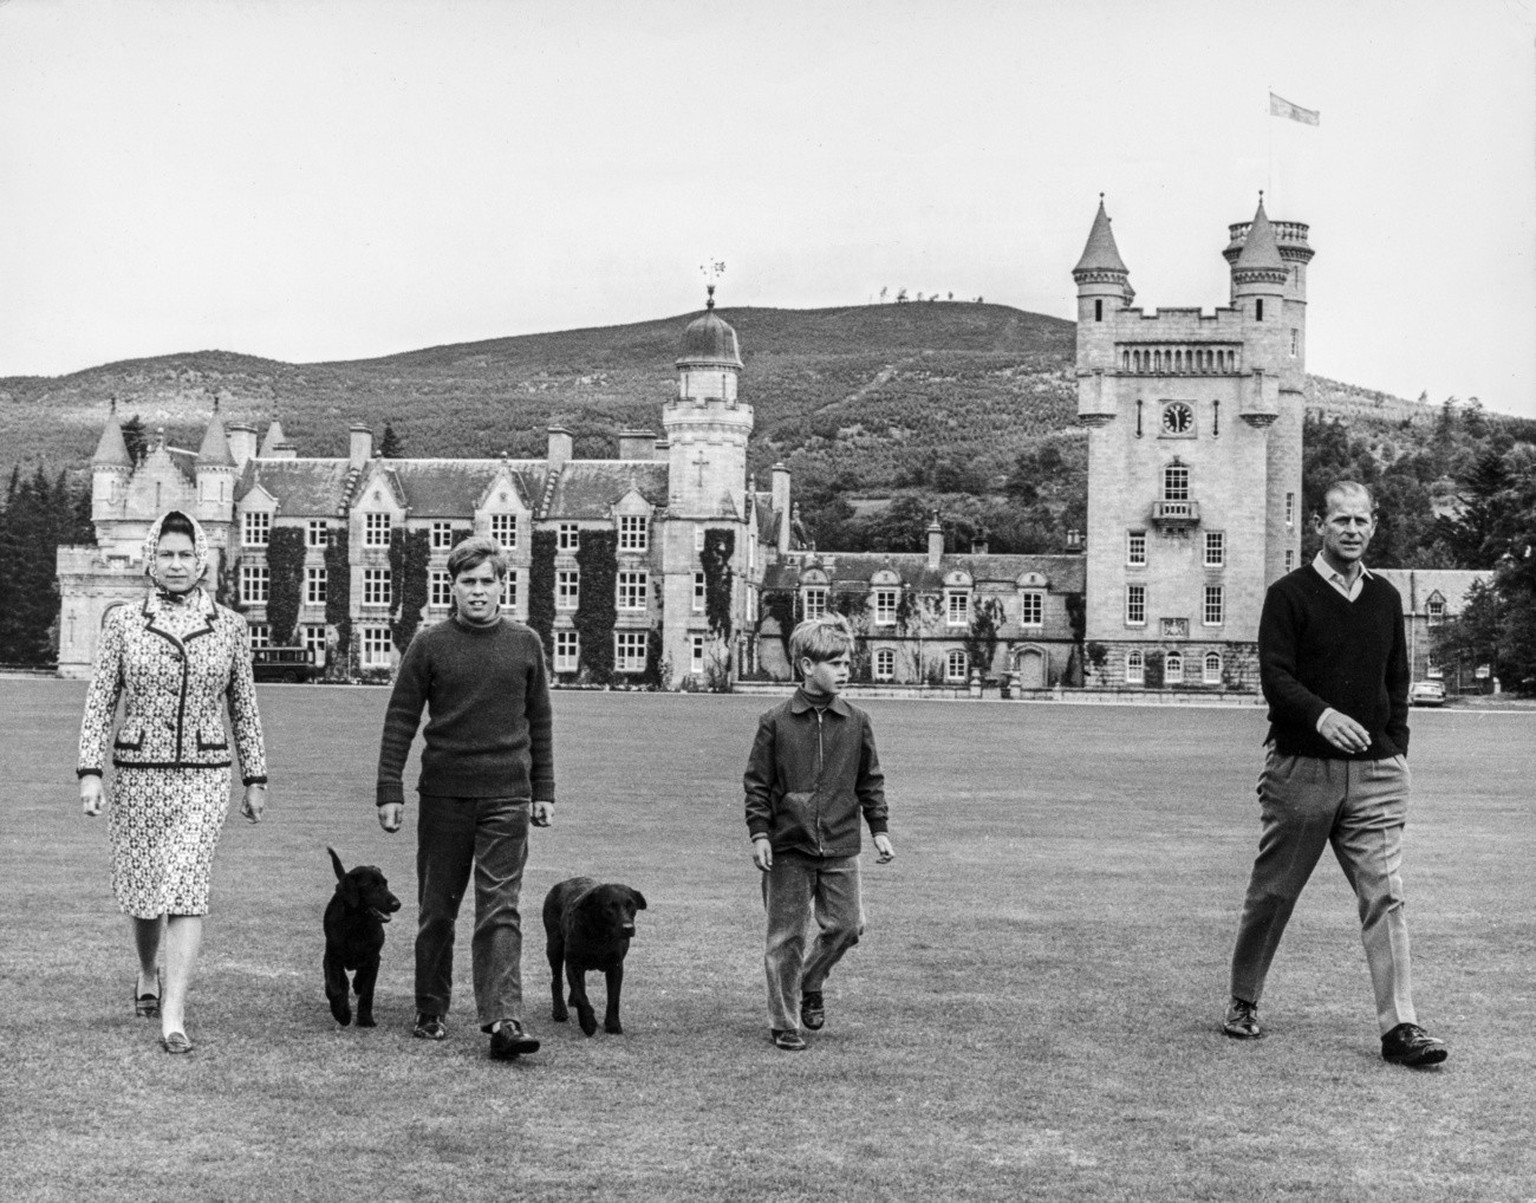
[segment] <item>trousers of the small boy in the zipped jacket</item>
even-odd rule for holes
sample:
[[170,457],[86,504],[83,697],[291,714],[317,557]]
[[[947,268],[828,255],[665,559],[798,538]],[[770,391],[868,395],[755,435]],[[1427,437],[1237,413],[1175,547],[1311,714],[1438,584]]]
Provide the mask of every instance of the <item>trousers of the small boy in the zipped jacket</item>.
[[[768,908],[768,1026],[797,1031],[800,996],[819,991],[826,974],[863,934],[863,903],[859,897],[857,856],[806,856],[774,853],[773,868],[762,874],[763,906]],[[805,930],[811,916],[820,931],[805,953]]]

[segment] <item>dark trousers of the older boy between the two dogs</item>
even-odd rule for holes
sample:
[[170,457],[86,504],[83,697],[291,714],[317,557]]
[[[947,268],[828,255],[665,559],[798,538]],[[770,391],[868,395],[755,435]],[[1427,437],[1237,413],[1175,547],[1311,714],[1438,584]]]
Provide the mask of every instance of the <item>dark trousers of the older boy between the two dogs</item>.
[[416,1009],[445,1016],[453,925],[475,868],[475,1008],[479,1025],[522,1019],[522,867],[528,799],[421,796],[416,825]]

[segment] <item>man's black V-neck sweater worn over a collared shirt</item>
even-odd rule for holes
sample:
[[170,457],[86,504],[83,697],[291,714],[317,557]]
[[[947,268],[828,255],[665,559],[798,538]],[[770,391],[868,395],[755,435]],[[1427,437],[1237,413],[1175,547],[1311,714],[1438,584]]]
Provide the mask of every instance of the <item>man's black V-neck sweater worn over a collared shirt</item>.
[[[1309,564],[1279,578],[1258,624],[1260,679],[1269,737],[1286,756],[1381,761],[1409,753],[1409,653],[1402,598],[1367,576],[1350,601]],[[1344,753],[1318,734],[1332,707],[1370,733],[1370,747]]]

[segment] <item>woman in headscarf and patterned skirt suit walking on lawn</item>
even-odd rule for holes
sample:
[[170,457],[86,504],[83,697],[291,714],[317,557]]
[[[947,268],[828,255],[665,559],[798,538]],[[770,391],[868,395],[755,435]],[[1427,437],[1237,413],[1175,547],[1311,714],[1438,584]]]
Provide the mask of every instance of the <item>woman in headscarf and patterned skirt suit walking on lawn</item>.
[[[152,587],[143,602],[108,611],[80,724],[77,776],[89,817],[108,800],[101,774],[112,747],[112,893],[129,916],[138,951],[134,1014],[160,1017],[166,1052],[192,1051],[187,983],[229,810],[226,698],[244,770],[240,811],[258,824],[266,810],[266,751],[246,622],[201,588],[206,572],[203,527],[180,510],[155,519],[144,539]],[[114,739],[120,698],[126,707]]]

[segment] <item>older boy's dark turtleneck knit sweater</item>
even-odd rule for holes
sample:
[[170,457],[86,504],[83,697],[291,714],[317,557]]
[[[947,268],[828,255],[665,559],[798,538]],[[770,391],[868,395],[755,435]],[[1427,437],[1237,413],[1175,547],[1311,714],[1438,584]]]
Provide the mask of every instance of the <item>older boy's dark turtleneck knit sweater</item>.
[[449,619],[418,631],[384,713],[381,807],[404,800],[401,773],[424,705],[418,793],[554,800],[550,684],[531,627]]

